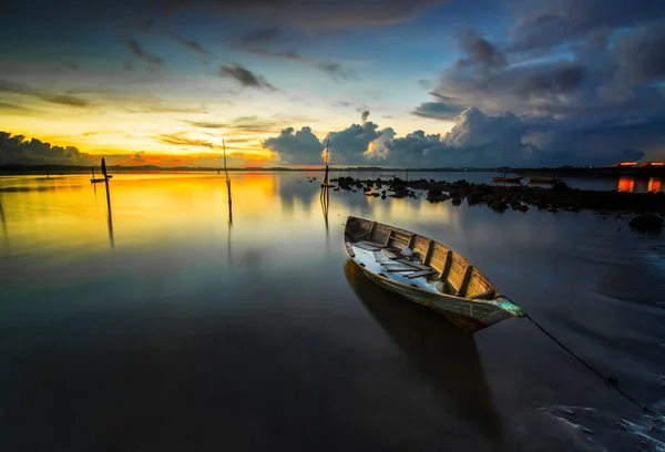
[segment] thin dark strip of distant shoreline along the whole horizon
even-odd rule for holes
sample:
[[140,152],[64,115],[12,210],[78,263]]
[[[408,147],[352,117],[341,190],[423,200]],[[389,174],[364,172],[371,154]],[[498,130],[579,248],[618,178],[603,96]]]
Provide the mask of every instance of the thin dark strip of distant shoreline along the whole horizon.
[[[101,168],[94,167],[95,172],[101,174]],[[76,165],[17,165],[8,164],[0,165],[0,175],[59,175],[59,174],[90,174],[90,166]],[[201,172],[201,173],[217,173],[221,168],[207,167],[160,167],[155,165],[141,166],[109,166],[110,173],[178,173],[178,172]],[[229,172],[324,172],[324,167],[316,168],[288,168],[288,167],[266,167],[266,168],[228,168]],[[330,167],[330,172],[366,172],[376,173],[385,172],[388,174],[402,175],[405,168],[386,168],[380,166],[348,166],[348,167]],[[665,167],[540,167],[540,168],[509,168],[509,167],[488,167],[488,168],[460,168],[460,167],[438,167],[438,168],[408,168],[409,173],[515,173],[522,175],[545,174],[556,177],[587,177],[587,176],[633,176],[633,177],[665,177]]]

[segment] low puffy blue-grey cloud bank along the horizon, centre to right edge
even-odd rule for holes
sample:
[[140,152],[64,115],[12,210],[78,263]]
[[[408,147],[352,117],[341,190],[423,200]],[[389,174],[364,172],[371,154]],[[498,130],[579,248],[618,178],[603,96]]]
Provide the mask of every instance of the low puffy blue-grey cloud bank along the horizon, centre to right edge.
[[580,124],[546,116],[501,113],[488,115],[475,107],[454,117],[444,134],[415,131],[396,137],[391,127],[352,124],[319,140],[309,127],[287,129],[264,142],[284,163],[319,164],[327,138],[335,165],[382,166],[561,166],[608,165],[641,160],[642,150],[665,143],[665,115],[645,122],[623,117]]

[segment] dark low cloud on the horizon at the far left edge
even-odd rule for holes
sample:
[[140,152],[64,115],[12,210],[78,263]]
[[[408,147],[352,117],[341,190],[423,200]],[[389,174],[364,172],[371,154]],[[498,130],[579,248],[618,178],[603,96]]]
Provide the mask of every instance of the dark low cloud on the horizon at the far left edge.
[[12,136],[8,132],[0,132],[0,165],[89,165],[95,161],[73,146],[51,146],[37,138],[24,138],[23,135]]

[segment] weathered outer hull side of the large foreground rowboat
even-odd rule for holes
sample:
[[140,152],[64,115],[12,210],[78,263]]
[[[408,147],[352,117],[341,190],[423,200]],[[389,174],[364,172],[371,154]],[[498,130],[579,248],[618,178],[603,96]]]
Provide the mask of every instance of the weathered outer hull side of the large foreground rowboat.
[[[351,260],[354,260],[351,258]],[[356,260],[354,264],[358,265]],[[448,297],[446,295],[430,294],[423,290],[411,290],[390,279],[382,278],[358,265],[365,275],[377,285],[410,300],[427,306],[439,312],[457,327],[468,332],[480,331],[513,316],[503,309],[479,301],[469,301],[463,298]]]

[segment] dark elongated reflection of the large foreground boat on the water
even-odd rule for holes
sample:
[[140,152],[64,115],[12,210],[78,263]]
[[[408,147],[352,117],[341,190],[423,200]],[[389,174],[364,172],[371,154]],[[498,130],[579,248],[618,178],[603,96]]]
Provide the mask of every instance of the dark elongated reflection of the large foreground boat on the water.
[[501,442],[501,424],[472,336],[421,306],[372,284],[348,260],[349,285],[390,339],[432,381],[462,420],[492,443]]

